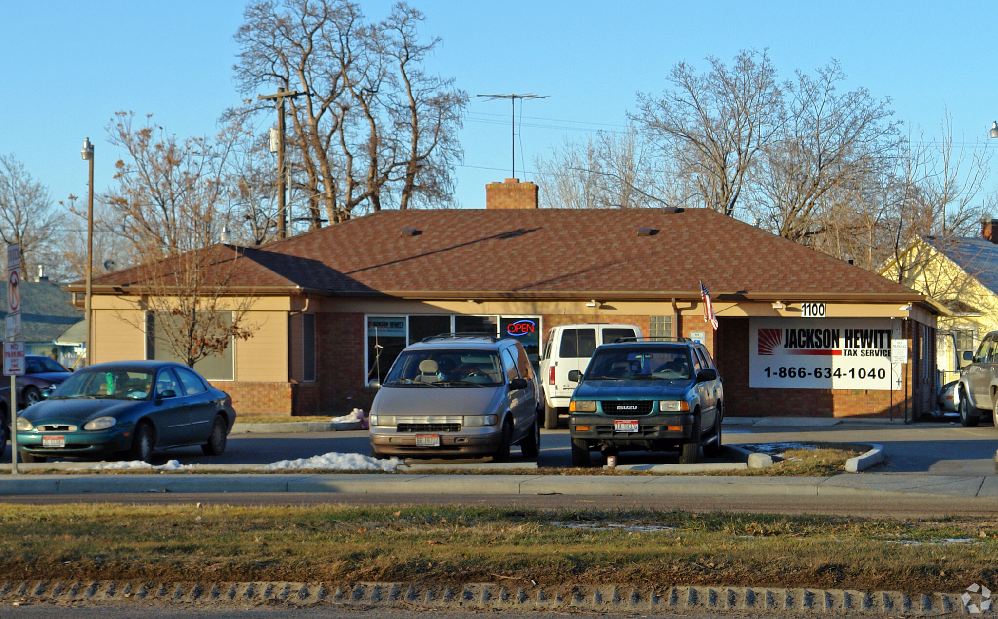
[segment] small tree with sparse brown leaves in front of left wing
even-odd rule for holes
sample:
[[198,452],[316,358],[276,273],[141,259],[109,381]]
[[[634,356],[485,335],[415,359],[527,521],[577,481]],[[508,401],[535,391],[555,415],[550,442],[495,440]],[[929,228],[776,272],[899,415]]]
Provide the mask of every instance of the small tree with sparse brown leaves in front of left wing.
[[102,196],[138,265],[120,277],[141,295],[142,317],[122,318],[154,331],[157,345],[193,366],[256,328],[246,320],[252,291],[234,287],[240,250],[215,243],[232,199],[226,163],[234,138],[227,128],[214,141],[180,140],[150,117],[141,128],[133,118],[119,113],[108,127],[127,157],[116,164],[117,187]]

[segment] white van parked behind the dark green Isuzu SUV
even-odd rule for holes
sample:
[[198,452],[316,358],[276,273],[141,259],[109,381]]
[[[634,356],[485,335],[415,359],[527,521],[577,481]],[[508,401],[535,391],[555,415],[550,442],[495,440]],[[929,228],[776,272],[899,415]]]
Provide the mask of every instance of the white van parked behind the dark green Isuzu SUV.
[[579,384],[569,380],[568,372],[586,371],[589,358],[600,344],[611,343],[618,337],[641,336],[637,324],[591,322],[553,326],[548,331],[538,376],[544,384],[544,427],[555,429],[558,415],[568,414],[569,399]]

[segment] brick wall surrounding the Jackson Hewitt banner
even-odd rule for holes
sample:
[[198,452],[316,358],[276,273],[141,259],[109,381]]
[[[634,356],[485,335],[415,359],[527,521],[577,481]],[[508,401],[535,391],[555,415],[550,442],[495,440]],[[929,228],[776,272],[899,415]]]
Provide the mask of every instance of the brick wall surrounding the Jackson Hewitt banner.
[[[690,316],[684,316],[684,321],[692,322]],[[710,335],[711,330],[707,332]],[[933,386],[923,383],[917,389],[912,387],[914,363],[904,365],[907,397],[903,385],[894,391],[750,388],[749,318],[721,318],[718,343],[715,359],[725,379],[725,413],[731,416],[886,417],[893,412],[895,418],[904,418],[905,405],[909,417],[935,407]]]

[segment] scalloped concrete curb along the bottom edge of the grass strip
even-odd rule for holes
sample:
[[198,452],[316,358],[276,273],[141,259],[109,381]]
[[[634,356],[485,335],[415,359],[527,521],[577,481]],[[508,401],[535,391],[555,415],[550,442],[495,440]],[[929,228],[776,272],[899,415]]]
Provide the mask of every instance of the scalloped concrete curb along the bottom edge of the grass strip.
[[[313,606],[333,603],[348,607],[408,609],[516,609],[567,611],[695,610],[712,612],[861,613],[876,616],[926,616],[967,613],[980,608],[981,594],[841,589],[780,589],[770,587],[631,585],[559,587],[466,583],[356,583],[328,585],[302,582],[175,583],[150,581],[23,581],[0,585],[4,601],[100,601],[174,604],[286,604]],[[18,604],[18,602],[14,602]],[[979,612],[979,611],[978,611]]]

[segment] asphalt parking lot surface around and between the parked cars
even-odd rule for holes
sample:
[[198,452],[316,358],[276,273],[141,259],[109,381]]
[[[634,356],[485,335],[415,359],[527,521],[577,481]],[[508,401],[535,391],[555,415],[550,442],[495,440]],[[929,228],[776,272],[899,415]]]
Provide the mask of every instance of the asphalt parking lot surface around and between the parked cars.
[[[939,475],[991,475],[998,449],[998,431],[991,425],[975,428],[959,423],[919,422],[910,425],[842,422],[831,419],[769,418],[754,425],[725,425],[726,444],[829,441],[866,442],[883,446],[887,461],[872,471],[920,472]],[[804,423],[808,425],[803,425]],[[206,456],[198,447],[174,449],[161,455],[182,464],[266,464],[284,459],[307,458],[328,452],[369,454],[366,430],[308,432],[293,434],[235,433],[222,456]],[[521,460],[519,449],[512,450],[513,461]],[[10,461],[10,445],[5,445],[2,461]],[[598,454],[594,464],[600,463]],[[624,452],[621,464],[669,463],[678,461],[677,452]],[[541,467],[567,467],[571,462],[567,429],[541,430]]]

